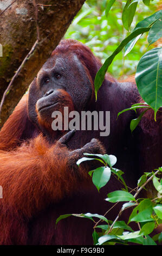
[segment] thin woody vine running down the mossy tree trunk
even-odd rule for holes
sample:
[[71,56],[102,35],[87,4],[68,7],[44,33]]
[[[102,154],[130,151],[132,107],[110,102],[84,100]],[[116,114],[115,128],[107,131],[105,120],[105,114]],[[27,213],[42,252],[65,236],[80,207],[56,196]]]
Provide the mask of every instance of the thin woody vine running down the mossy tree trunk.
[[[16,2],[16,0],[14,1]],[[12,2],[12,3],[14,3]],[[11,4],[12,4],[11,3]],[[11,5],[10,4],[10,5]],[[12,77],[7,89],[5,90],[4,94],[3,94],[3,97],[2,97],[2,100],[1,100],[1,104],[0,104],[0,114],[1,114],[1,111],[2,111],[2,106],[3,106],[3,103],[4,103],[4,100],[5,100],[5,96],[7,95],[7,93],[9,92],[11,86],[12,86],[12,83],[14,82],[15,78],[18,76],[18,74],[20,73],[20,71],[22,70],[24,64],[27,62],[27,60],[30,58],[31,54],[33,54],[33,52],[35,51],[37,45],[38,45],[38,42],[40,41],[40,29],[39,29],[39,26],[38,26],[38,10],[37,10],[37,4],[35,2],[35,0],[33,0],[33,5],[35,7],[35,21],[36,21],[36,30],[37,30],[37,40],[35,41],[34,45],[31,47],[31,50],[30,52],[27,54],[27,56],[24,58],[23,62],[21,63],[20,67],[17,69],[15,75]],[[9,8],[9,7],[8,7]],[[6,10],[6,9],[5,9]],[[4,10],[4,11],[5,11]],[[3,12],[4,12],[3,11]],[[2,13],[1,13],[2,14]]]

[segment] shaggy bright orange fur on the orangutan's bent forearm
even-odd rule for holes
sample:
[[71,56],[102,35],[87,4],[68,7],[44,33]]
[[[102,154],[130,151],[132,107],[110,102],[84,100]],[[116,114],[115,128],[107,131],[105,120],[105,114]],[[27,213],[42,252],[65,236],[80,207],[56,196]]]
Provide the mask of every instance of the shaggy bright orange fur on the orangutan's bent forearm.
[[[17,236],[16,230],[22,230],[25,220],[81,189],[81,180],[87,180],[87,172],[80,169],[82,179],[78,182],[75,171],[68,171],[69,162],[66,146],[60,142],[50,146],[42,135],[12,152],[0,151],[1,245],[12,244],[12,234]],[[21,235],[19,239],[25,243]]]

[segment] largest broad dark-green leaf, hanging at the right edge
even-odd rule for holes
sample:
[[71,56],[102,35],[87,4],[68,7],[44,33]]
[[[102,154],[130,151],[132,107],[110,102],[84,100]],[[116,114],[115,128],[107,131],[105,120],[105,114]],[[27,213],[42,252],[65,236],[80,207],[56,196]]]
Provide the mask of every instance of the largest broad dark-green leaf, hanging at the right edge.
[[162,106],[162,48],[154,48],[141,57],[135,81],[139,93],[155,112]]

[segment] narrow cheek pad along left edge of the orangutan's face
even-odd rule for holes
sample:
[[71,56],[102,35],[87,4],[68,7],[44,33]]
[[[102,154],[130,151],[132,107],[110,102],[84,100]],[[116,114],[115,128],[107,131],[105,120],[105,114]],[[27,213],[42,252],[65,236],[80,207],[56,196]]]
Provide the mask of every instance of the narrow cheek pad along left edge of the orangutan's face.
[[39,90],[37,87],[37,80],[35,77],[33,82],[31,82],[29,86],[28,106],[27,106],[29,119],[34,124],[37,123],[36,102],[38,98],[39,98]]

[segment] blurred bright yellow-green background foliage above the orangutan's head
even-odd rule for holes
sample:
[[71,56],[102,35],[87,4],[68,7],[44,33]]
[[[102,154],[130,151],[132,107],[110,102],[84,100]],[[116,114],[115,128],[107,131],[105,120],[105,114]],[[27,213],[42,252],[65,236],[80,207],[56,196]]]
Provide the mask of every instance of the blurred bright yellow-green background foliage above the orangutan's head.
[[[83,4],[72,25],[64,35],[64,38],[72,38],[83,42],[93,51],[95,56],[103,63],[109,57],[120,42],[129,34],[122,25],[121,15],[126,1],[116,0],[108,17],[105,16],[105,8],[108,0],[87,0]],[[160,0],[154,0],[149,6],[141,2],[134,16],[130,32],[137,22],[157,11]],[[133,50],[124,58],[124,51],[115,57],[108,72],[115,78],[126,78],[135,73],[139,59],[148,47],[147,33],[142,35]]]

